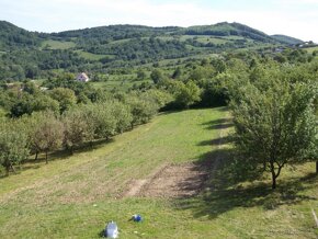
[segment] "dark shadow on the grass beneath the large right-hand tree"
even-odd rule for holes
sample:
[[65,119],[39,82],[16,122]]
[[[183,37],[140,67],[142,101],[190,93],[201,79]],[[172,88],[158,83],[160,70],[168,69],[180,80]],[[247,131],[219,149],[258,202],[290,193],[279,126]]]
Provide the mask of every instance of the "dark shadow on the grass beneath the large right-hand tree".
[[273,191],[271,182],[261,180],[260,171],[245,169],[231,149],[218,149],[203,155],[197,161],[197,169],[209,173],[205,189],[191,200],[178,198],[175,204],[178,209],[192,210],[194,217],[207,216],[213,219],[239,207],[275,209],[281,205],[317,201],[303,193],[317,186],[314,173],[280,180],[277,189]]

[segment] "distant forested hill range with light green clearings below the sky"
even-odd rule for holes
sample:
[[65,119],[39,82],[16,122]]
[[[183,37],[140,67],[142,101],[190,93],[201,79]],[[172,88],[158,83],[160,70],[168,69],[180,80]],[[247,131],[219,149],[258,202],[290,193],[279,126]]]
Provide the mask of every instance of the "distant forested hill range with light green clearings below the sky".
[[[101,72],[160,60],[242,48],[275,48],[302,41],[272,37],[239,23],[190,27],[110,25],[36,33],[0,22],[0,80],[45,77],[54,70]],[[294,39],[294,41],[291,41]]]

